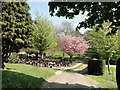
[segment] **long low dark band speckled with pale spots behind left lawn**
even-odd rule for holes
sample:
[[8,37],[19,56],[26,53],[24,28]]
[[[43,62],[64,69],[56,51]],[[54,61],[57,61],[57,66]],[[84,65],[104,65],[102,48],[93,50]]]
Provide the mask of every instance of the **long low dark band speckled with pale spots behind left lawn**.
[[16,63],[24,63],[24,64],[29,64],[29,65],[34,65],[34,66],[39,66],[39,67],[59,67],[59,66],[69,66],[72,63],[75,63],[76,61],[73,59],[54,59],[54,60],[25,60],[21,59]]

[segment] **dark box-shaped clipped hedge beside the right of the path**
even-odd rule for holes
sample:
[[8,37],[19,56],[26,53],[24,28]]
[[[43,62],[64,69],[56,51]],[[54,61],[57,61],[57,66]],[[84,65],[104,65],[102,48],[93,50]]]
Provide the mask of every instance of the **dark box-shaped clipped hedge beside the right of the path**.
[[103,75],[105,72],[105,60],[93,59],[88,61],[88,73],[91,75]]

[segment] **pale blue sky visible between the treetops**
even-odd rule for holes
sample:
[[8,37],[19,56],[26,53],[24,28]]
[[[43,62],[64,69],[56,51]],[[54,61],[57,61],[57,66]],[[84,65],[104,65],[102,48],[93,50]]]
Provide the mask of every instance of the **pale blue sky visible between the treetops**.
[[[59,26],[61,24],[61,22],[63,21],[69,21],[74,28],[76,28],[76,26],[78,25],[79,22],[83,21],[86,17],[86,14],[85,15],[77,15],[75,16],[73,19],[66,19],[65,17],[57,17],[57,16],[50,16],[50,13],[49,13],[49,6],[48,6],[48,2],[47,1],[44,1],[44,2],[27,2],[28,5],[30,6],[30,13],[31,13],[31,17],[32,19],[35,18],[35,10],[38,10],[40,15],[42,16],[46,16],[50,21],[52,21],[52,23],[55,25],[55,26]],[[81,28],[80,32],[81,33],[84,33],[86,30],[88,29],[84,29],[84,28]]]

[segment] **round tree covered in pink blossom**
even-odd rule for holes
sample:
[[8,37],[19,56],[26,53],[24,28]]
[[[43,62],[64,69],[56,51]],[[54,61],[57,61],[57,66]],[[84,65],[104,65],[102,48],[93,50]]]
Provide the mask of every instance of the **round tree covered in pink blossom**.
[[70,35],[61,35],[59,45],[61,51],[67,53],[70,58],[75,54],[83,54],[90,47],[83,38]]

